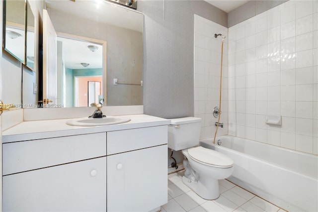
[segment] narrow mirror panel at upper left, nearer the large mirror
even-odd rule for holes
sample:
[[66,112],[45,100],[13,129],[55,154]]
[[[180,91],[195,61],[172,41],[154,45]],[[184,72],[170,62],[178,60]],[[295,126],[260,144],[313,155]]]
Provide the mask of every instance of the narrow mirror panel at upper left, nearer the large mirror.
[[26,66],[34,70],[35,60],[35,36],[34,36],[34,15],[31,10],[29,1],[26,4]]

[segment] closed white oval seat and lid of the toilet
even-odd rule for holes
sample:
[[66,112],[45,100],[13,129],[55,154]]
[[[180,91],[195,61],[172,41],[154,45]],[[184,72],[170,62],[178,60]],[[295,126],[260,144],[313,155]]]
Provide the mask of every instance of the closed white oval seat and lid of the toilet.
[[188,149],[188,155],[198,163],[218,168],[230,168],[234,163],[228,156],[202,146]]

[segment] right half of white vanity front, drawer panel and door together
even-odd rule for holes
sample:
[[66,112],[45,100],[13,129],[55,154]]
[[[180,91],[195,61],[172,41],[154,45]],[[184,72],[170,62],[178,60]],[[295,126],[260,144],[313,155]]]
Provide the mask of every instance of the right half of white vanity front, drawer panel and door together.
[[107,211],[148,212],[167,202],[167,148],[166,125],[107,132]]

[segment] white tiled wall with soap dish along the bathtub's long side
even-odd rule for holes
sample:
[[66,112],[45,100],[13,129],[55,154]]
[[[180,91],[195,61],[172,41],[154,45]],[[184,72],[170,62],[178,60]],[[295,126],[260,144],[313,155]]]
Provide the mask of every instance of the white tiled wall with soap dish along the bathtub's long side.
[[229,134],[318,154],[317,12],[291,0],[229,28]]

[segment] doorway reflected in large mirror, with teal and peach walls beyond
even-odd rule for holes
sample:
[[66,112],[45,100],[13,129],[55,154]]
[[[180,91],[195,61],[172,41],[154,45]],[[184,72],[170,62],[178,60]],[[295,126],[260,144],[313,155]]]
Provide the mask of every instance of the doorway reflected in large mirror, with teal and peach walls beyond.
[[[60,76],[58,81],[62,82],[61,86],[57,86],[58,96],[62,94],[57,103],[66,107],[90,106],[94,102],[88,98],[87,86],[89,81],[98,81],[102,85],[106,42],[84,37],[69,38],[71,35],[66,34],[63,36],[58,34],[57,37],[57,75]],[[101,102],[102,93],[100,87]]]

